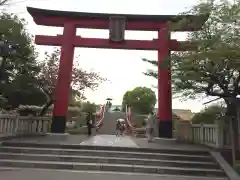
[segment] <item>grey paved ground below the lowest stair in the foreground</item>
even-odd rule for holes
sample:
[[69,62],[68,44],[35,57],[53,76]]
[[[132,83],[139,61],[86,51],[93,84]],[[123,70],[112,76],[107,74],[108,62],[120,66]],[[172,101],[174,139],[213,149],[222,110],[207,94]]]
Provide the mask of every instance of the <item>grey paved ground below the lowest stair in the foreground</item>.
[[[106,172],[76,172],[53,171],[38,169],[0,169],[1,180],[209,180],[209,178],[187,176],[164,176],[152,174],[106,173]],[[220,178],[216,178],[220,179]],[[215,178],[211,178],[215,180]],[[221,180],[227,180],[221,178]]]

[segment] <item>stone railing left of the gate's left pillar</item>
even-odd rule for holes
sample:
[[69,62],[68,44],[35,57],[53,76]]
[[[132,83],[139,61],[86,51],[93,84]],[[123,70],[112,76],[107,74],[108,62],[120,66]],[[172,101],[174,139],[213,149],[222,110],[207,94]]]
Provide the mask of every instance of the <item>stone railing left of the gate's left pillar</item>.
[[28,133],[47,133],[50,128],[50,118],[0,115],[0,134],[28,134]]

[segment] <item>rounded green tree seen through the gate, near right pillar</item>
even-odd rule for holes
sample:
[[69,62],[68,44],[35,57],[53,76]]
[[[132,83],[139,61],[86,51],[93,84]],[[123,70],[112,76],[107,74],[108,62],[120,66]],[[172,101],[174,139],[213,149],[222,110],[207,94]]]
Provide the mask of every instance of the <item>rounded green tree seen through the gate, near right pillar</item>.
[[156,101],[156,95],[150,88],[136,87],[124,94],[122,108],[125,111],[128,105],[132,107],[133,112],[148,114],[154,109]]

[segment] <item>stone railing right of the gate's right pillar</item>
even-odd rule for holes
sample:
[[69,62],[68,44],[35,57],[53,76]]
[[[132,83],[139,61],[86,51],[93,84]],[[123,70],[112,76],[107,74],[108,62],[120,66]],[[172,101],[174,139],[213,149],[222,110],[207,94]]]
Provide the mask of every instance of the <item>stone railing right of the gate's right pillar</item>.
[[214,148],[229,148],[230,133],[219,122],[215,124],[191,124],[190,121],[179,121],[176,138]]

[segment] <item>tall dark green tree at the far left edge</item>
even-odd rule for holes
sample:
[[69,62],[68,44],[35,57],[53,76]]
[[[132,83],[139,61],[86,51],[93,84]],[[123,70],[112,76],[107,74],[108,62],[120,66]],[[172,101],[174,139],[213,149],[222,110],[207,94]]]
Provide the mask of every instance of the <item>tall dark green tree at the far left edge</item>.
[[[20,104],[44,103],[44,95],[38,88],[36,76],[39,67],[32,36],[26,30],[24,19],[13,14],[0,14],[0,40],[19,44],[15,53],[10,54],[1,68],[0,92],[8,99],[8,104],[18,107]],[[34,98],[31,98],[34,97]]]

